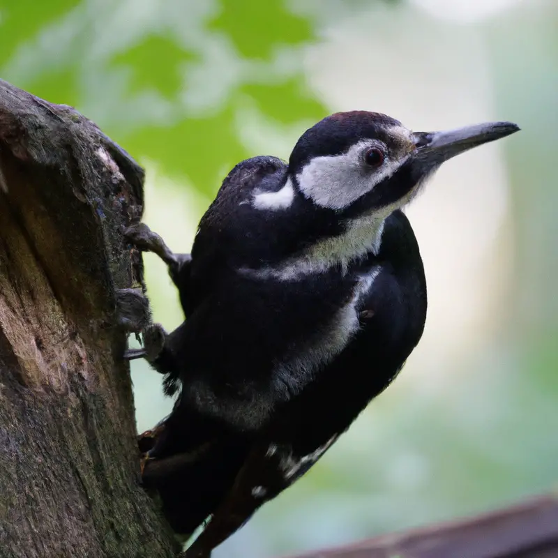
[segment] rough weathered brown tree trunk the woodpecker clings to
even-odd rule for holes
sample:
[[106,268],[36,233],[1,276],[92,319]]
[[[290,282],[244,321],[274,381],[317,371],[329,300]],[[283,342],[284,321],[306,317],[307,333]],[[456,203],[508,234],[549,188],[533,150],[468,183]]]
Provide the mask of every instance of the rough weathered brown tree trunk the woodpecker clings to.
[[138,483],[117,289],[143,171],[71,107],[0,81],[0,556],[170,557]]

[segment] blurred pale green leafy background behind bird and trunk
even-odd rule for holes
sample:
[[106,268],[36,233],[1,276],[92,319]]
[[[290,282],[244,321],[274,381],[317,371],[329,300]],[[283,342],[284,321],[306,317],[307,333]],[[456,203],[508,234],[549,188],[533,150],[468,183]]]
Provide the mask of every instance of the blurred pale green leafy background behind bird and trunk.
[[[447,520],[558,476],[555,0],[0,0],[0,76],[74,105],[145,168],[144,220],[188,252],[243,158],[287,158],[338,110],[414,130],[522,132],[447,163],[407,210],[430,306],[407,366],[216,558],[263,558]],[[155,319],[181,322],[146,255]],[[140,431],[172,402],[134,363]]]

